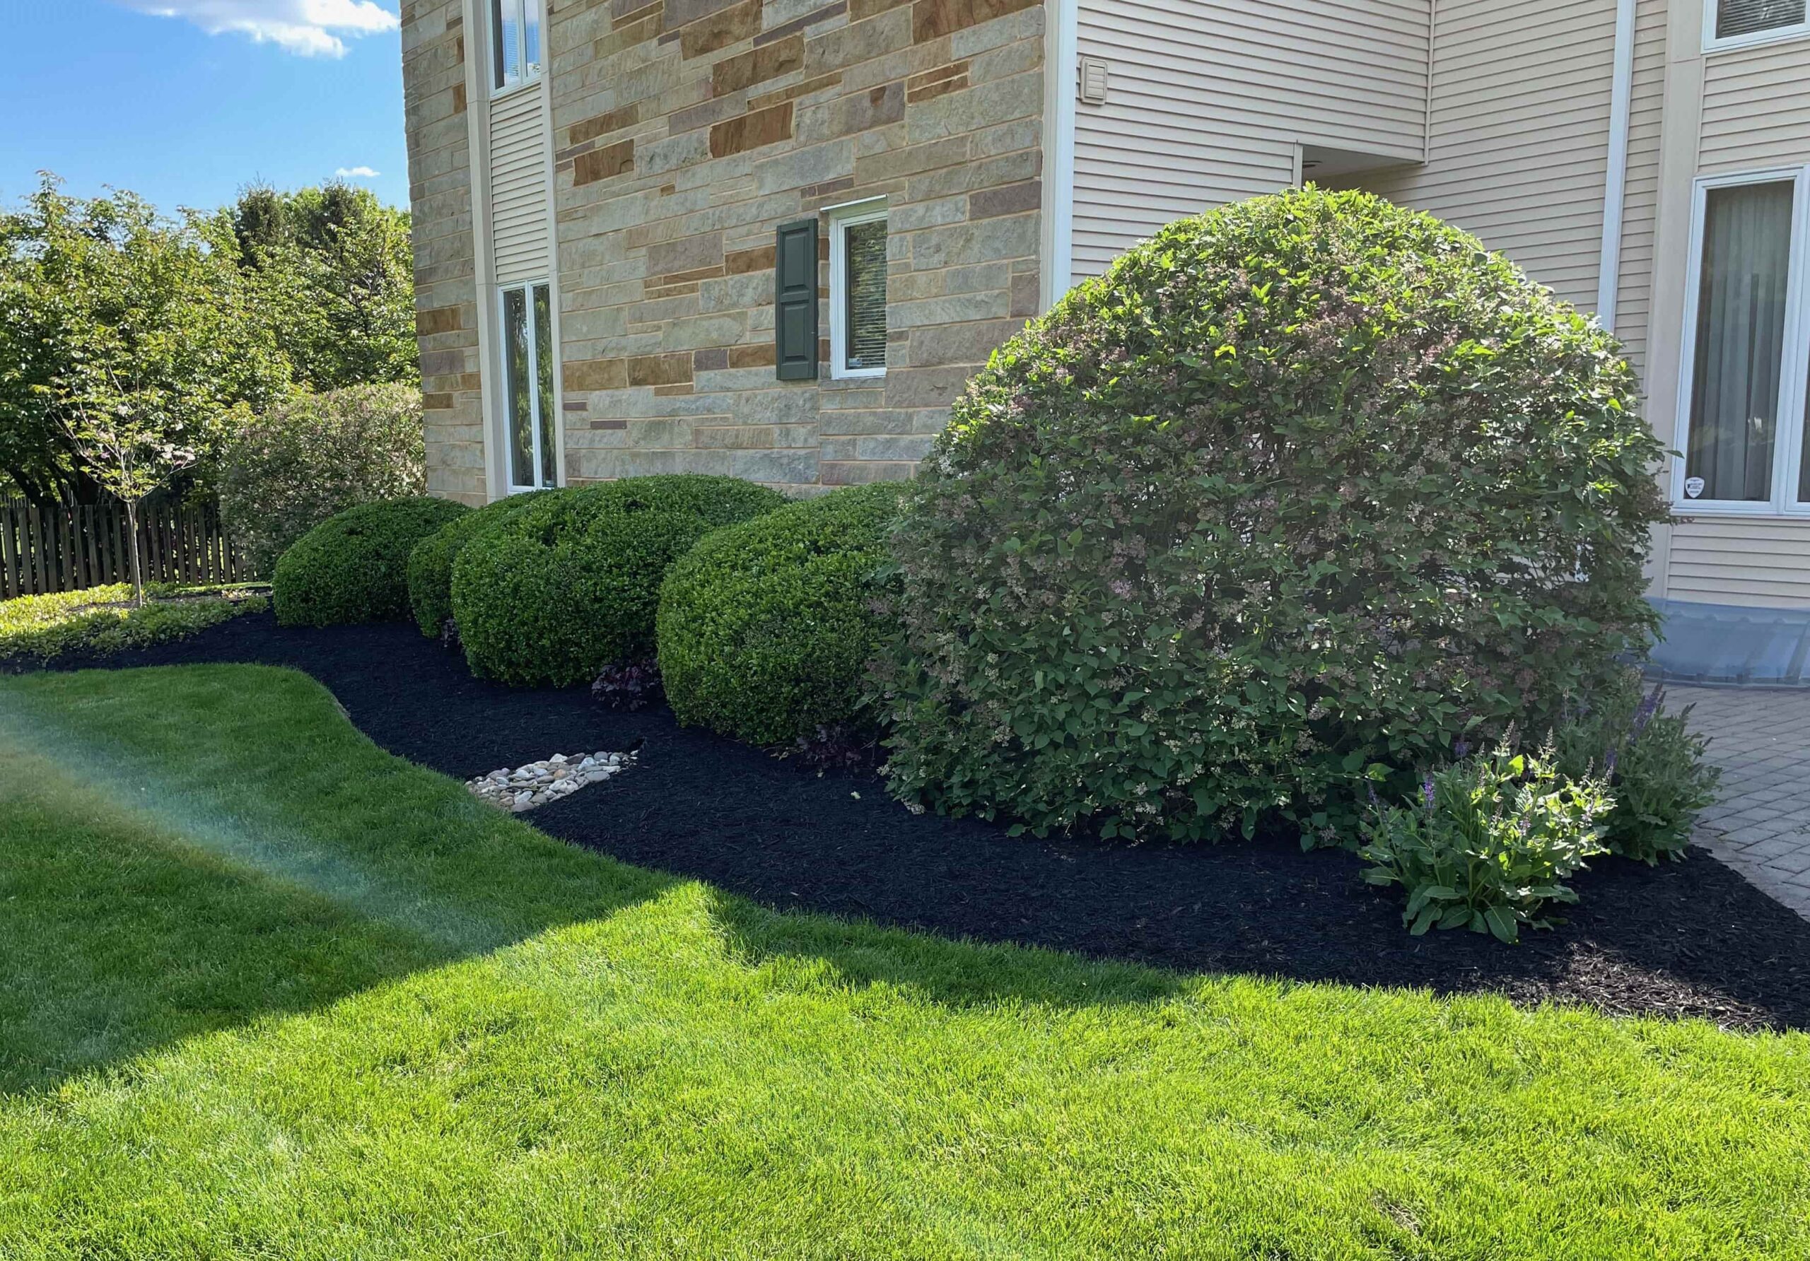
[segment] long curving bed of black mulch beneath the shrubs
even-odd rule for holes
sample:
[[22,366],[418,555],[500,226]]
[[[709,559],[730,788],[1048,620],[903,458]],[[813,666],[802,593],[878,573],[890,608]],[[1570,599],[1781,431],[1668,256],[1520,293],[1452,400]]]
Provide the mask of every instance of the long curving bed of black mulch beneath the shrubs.
[[1175,970],[1810,1028],[1810,923],[1701,850],[1660,868],[1598,859],[1573,881],[1582,905],[1571,923],[1526,934],[1520,946],[1468,932],[1414,939],[1397,899],[1363,885],[1350,854],[1301,854],[1292,839],[1039,843],[972,820],[914,816],[872,774],[818,776],[679,727],[664,706],[621,713],[586,689],[480,682],[413,626],[284,630],[261,613],[60,668],[224,660],[304,669],[380,745],[460,778],[641,742],[632,771],[529,818],[577,845],[769,906]]

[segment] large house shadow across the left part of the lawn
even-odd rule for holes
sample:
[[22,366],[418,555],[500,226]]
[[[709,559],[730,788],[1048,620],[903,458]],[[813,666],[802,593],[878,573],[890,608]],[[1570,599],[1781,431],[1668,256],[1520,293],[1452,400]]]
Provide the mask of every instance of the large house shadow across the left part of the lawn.
[[[673,885],[380,753],[304,677],[257,671],[272,691],[253,671],[0,689],[0,1093],[319,1010]],[[288,738],[268,740],[275,727]]]

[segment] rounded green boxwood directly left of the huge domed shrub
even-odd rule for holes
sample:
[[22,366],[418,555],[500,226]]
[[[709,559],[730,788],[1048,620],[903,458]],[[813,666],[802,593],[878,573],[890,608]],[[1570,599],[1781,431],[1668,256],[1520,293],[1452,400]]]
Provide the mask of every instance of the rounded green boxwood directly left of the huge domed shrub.
[[681,724],[776,745],[860,720],[883,639],[874,577],[901,488],[791,503],[717,530],[673,564],[659,659]]

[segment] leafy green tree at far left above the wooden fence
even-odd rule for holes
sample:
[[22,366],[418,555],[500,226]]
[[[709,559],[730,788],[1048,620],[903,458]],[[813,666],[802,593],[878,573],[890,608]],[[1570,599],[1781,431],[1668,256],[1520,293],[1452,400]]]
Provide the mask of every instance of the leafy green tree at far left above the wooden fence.
[[239,280],[206,221],[45,175],[0,213],[0,476],[36,499],[139,499],[208,461],[233,403],[288,387]]

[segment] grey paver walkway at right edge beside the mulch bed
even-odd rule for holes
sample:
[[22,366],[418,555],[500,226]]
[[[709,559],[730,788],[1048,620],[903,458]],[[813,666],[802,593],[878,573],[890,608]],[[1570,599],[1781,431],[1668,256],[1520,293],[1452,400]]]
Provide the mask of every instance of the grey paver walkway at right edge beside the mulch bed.
[[1698,839],[1716,858],[1810,919],[1810,687],[1667,686],[1667,711],[1714,736],[1721,800]]

